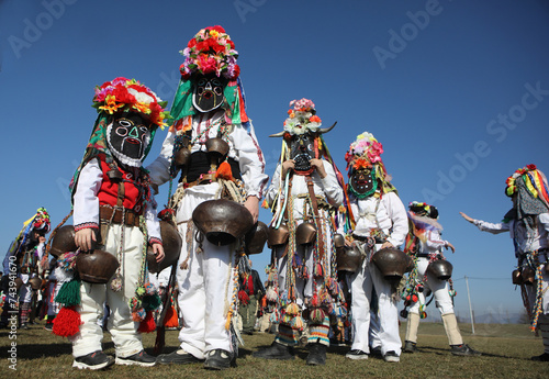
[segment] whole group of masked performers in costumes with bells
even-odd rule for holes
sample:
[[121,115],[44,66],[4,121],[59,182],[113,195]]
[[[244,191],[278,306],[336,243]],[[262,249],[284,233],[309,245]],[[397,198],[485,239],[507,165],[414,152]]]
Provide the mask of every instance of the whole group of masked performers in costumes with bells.
[[[98,118],[70,183],[71,211],[47,243],[45,209],[24,223],[4,259],[0,326],[46,319],[72,344],[79,369],[200,363],[222,370],[236,366],[242,334],[254,333],[259,313],[277,327],[256,358],[294,359],[302,346],[307,365],[325,365],[330,344],[348,343],[349,359],[397,363],[402,352],[421,352],[417,330],[432,293],[450,353],[480,355],[458,327],[442,254],[453,246],[441,238],[438,210],[417,201],[406,210],[382,144],[359,134],[345,154],[345,180],[323,137],[336,124],[323,127],[312,100],[293,100],[283,130],[271,135],[282,147],[269,183],[228,34],[205,27],[181,53],[169,112],[135,79],[96,88]],[[165,126],[159,156],[143,167]],[[158,212],[155,192],[165,183],[169,200]],[[507,179],[506,194],[513,208],[504,222],[462,216],[481,231],[511,233],[515,280],[544,339],[533,359],[549,361],[547,179],[528,165]],[[272,212],[268,226],[258,221],[261,199]],[[69,216],[74,225],[64,225]],[[265,243],[264,287],[250,255]],[[399,315],[407,320],[404,342]],[[180,345],[159,354],[166,327],[179,330]],[[115,357],[103,353],[104,331]],[[157,356],[142,342],[153,331]]]

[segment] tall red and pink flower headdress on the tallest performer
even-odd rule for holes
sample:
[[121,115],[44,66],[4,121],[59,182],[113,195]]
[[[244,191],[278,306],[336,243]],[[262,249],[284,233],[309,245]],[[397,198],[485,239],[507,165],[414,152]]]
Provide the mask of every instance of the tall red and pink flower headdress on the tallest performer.
[[179,70],[184,80],[194,73],[223,75],[228,80],[235,80],[240,74],[235,44],[220,25],[202,29],[180,53],[184,62]]

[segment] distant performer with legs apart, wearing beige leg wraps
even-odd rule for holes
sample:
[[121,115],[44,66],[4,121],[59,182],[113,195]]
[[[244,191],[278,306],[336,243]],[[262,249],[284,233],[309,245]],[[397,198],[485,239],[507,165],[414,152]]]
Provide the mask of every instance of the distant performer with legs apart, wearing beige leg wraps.
[[[452,244],[441,238],[442,226],[436,221],[438,210],[424,202],[413,201],[408,205],[411,230],[406,236],[405,252],[414,258],[415,267],[407,278],[403,292],[404,303],[411,305],[407,312],[404,352],[417,352],[417,328],[419,319],[426,316],[425,294],[433,292],[435,302],[442,316],[451,354],[459,356],[480,355],[463,344],[458,321],[453,313],[451,288],[451,265],[445,260],[442,248],[455,252]],[[430,267],[429,267],[430,265]],[[429,267],[429,269],[427,269]]]

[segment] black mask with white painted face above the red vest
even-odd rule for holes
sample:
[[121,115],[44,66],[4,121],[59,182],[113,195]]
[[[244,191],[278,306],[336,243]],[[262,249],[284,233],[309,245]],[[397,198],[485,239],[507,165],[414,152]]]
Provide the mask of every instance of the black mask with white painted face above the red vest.
[[107,141],[122,164],[139,167],[150,142],[150,122],[138,113],[123,114],[107,127]]

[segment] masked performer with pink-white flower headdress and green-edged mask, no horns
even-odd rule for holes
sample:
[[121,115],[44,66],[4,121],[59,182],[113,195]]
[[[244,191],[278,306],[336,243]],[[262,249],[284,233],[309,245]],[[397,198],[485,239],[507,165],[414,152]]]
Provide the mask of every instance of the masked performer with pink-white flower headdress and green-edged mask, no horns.
[[373,135],[365,132],[350,145],[345,157],[349,176],[349,207],[343,233],[346,245],[362,252],[366,257],[351,277],[354,341],[346,357],[368,358],[373,289],[378,299],[377,335],[381,341],[381,354],[385,361],[400,361],[401,339],[394,283],[388,281],[370,260],[383,248],[402,245],[408,232],[406,210],[389,181],[380,157],[382,153],[382,145]]

